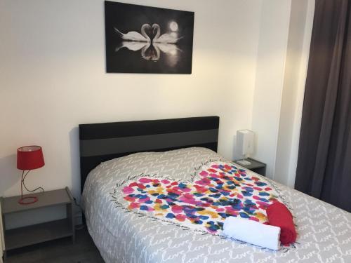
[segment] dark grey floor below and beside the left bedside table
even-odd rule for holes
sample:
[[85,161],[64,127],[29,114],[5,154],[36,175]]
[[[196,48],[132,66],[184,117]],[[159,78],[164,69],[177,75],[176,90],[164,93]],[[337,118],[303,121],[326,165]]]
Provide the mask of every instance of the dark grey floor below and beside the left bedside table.
[[104,262],[86,227],[76,231],[76,243],[69,238],[32,245],[8,252],[6,263],[100,263]]

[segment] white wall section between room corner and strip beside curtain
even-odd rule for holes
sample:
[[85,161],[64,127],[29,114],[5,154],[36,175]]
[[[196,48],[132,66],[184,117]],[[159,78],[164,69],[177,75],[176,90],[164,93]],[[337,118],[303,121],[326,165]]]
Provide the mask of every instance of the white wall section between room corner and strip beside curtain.
[[253,158],[267,163],[268,177],[274,175],[290,11],[291,0],[263,1],[260,18],[252,116],[257,147]]

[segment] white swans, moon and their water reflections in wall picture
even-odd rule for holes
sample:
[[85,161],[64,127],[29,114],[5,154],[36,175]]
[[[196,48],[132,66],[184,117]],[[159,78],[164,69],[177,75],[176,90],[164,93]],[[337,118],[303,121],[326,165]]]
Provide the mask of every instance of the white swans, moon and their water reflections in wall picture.
[[[178,63],[179,53],[182,52],[176,43],[183,37],[178,37],[178,34],[175,32],[178,30],[177,23],[171,22],[171,25],[173,25],[173,29],[171,27],[173,32],[170,34],[161,34],[161,27],[158,24],[153,24],[152,27],[149,24],[144,24],[141,27],[141,34],[138,32],[123,34],[114,27],[114,31],[123,40],[116,47],[115,52],[118,52],[122,48],[127,48],[134,52],[141,50],[141,58],[153,62],[157,62],[161,57],[161,53],[164,53],[167,64],[174,67]],[[146,31],[150,36],[153,35],[154,37],[151,39]]]

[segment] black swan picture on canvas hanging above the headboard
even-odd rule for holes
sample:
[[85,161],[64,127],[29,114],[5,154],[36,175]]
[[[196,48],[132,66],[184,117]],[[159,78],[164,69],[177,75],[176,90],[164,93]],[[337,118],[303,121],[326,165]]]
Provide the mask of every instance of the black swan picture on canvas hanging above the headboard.
[[192,73],[194,12],[105,1],[107,73]]

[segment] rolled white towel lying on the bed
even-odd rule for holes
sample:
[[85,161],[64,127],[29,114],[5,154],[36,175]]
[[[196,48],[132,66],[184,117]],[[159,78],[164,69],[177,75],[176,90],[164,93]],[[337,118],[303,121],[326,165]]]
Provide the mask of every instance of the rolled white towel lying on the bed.
[[230,238],[272,250],[278,250],[280,245],[280,227],[244,218],[227,217],[223,224],[223,233]]

